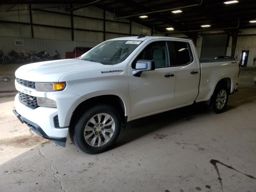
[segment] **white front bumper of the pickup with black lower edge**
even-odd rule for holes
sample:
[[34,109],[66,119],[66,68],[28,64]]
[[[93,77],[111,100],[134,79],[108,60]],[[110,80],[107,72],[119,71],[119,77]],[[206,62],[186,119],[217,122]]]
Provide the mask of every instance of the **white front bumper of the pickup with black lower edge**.
[[58,115],[57,108],[38,107],[31,109],[20,102],[18,94],[15,96],[14,102],[14,114],[21,122],[26,123],[36,134],[54,142],[62,142],[58,143],[58,145],[65,146],[68,127],[56,128],[54,126],[54,117]]

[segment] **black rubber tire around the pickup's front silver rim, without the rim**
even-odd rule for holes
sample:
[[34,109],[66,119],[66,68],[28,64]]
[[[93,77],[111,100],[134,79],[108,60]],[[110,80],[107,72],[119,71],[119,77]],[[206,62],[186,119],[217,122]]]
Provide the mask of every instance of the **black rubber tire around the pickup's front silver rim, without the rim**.
[[[115,122],[114,134],[112,135],[111,139],[103,146],[90,146],[84,138],[84,129],[88,121],[93,116],[100,113],[107,113],[113,117]],[[106,151],[107,149],[110,148],[110,146],[112,146],[112,144],[114,144],[114,142],[118,138],[120,130],[121,118],[117,110],[108,104],[98,104],[86,110],[86,112],[81,116],[81,118],[74,126],[72,138],[74,140],[74,144],[76,145],[76,147],[78,147],[82,152],[85,152],[87,154],[98,154]]]

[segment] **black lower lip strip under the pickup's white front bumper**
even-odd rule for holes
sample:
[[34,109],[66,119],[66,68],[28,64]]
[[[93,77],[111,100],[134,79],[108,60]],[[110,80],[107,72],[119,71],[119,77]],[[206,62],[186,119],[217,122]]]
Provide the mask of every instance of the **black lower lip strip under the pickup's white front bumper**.
[[18,118],[18,120],[20,120],[21,123],[25,123],[32,131],[34,131],[34,132],[35,132],[36,134],[38,134],[39,136],[41,136],[41,137],[43,137],[43,138],[46,138],[46,139],[49,139],[49,140],[52,140],[53,142],[55,142],[56,144],[58,144],[58,145],[60,145],[60,146],[62,146],[62,147],[65,147],[65,146],[66,146],[66,140],[67,140],[66,137],[64,137],[64,138],[50,137],[50,136],[48,136],[48,135],[42,130],[42,128],[41,128],[38,124],[36,124],[36,123],[34,123],[34,122],[32,122],[32,121],[30,121],[30,120],[28,120],[28,119],[22,117],[20,114],[18,114],[18,113],[16,112],[15,109],[12,110],[12,112],[15,114],[15,116]]

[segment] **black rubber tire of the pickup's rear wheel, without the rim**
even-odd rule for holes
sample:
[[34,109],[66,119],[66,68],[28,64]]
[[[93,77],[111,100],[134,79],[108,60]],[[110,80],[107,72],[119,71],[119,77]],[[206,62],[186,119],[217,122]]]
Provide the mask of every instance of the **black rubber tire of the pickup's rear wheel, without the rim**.
[[[224,106],[220,109],[217,108],[216,106],[216,100],[217,100],[217,96],[219,94],[220,91],[222,90],[225,90],[226,91],[226,102],[224,103]],[[212,113],[221,113],[223,112],[223,110],[225,109],[227,103],[228,103],[228,95],[229,95],[229,92],[228,92],[228,89],[226,87],[223,87],[223,86],[217,86],[214,90],[214,93],[211,97],[211,100],[210,100],[210,105],[209,105],[209,110],[210,112]]]

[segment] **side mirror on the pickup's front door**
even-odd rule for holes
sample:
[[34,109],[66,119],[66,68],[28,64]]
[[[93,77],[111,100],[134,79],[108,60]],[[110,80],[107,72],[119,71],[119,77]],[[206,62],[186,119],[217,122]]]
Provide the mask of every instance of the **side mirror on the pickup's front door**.
[[155,62],[153,60],[138,60],[136,62],[135,70],[132,71],[133,76],[140,77],[143,71],[155,70]]

